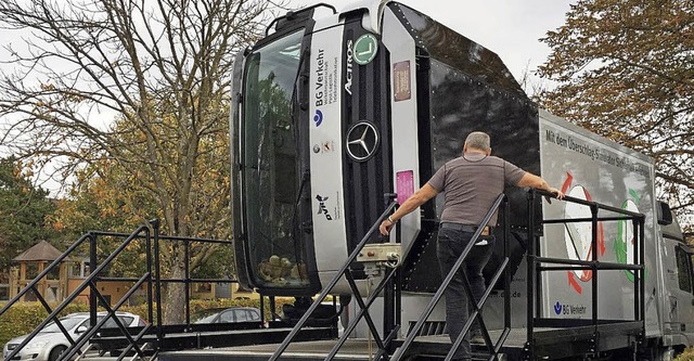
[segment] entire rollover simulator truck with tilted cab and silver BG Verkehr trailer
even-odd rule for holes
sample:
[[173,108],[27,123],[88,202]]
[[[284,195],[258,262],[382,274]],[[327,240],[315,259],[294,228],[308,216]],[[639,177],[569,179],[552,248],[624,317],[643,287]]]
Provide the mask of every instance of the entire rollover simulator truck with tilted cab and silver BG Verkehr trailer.
[[[488,271],[501,265],[512,276],[491,285],[481,309],[492,333],[510,326],[520,335],[498,338],[502,352],[666,359],[692,345],[691,250],[655,197],[653,160],[538,109],[483,46],[397,2],[339,12],[318,4],[277,18],[237,55],[233,77],[234,240],[246,286],[310,297],[335,279],[330,293],[347,304],[355,292],[338,270],[389,201],[406,199],[481,130],[494,155],[574,199],[549,204],[506,190],[510,212],[494,232],[501,240],[509,230],[511,257],[497,242]],[[373,317],[376,326],[399,339],[445,276],[435,257],[441,206],[429,202],[389,238],[368,240],[399,269],[397,307],[380,298],[382,310],[370,310],[385,313]],[[384,278],[373,263],[349,269],[360,295]],[[422,354],[442,357],[450,346],[442,302],[425,321],[441,341]],[[345,323],[359,305],[348,307]],[[360,322],[349,336],[371,331]],[[386,353],[402,344],[391,345]]]

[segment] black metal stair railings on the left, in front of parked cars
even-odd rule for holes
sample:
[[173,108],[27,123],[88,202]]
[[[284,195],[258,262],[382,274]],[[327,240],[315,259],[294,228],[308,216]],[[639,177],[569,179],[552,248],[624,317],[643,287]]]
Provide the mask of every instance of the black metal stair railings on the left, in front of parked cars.
[[[118,242],[118,246],[105,259],[100,260],[98,257],[98,248],[100,246],[100,241],[105,237],[116,240]],[[139,278],[108,276],[108,268],[113,265],[114,259],[121,255],[126,248],[134,246],[133,242],[144,244],[143,254],[145,256],[145,265],[143,274]],[[228,344],[229,335],[234,333],[244,333],[244,335],[241,335],[237,338],[246,339],[245,341],[247,344],[248,339],[253,337],[253,333],[258,328],[261,328],[264,320],[260,322],[240,322],[229,325],[191,324],[190,320],[190,289],[193,284],[201,282],[232,283],[235,281],[229,279],[195,279],[191,276],[189,267],[185,267],[184,275],[180,279],[163,278],[159,262],[159,245],[163,242],[182,243],[182,246],[185,249],[184,262],[187,265],[190,263],[191,246],[193,243],[231,245],[231,241],[223,240],[162,235],[159,234],[158,220],[152,220],[130,234],[92,231],[82,235],[76,243],[69,246],[64,254],[57,257],[57,259],[49,265],[31,282],[29,282],[27,286],[24,287],[15,297],[8,301],[2,309],[0,309],[0,317],[2,317],[2,314],[4,314],[9,309],[17,305],[23,296],[27,293],[34,293],[36,298],[48,312],[46,320],[43,320],[29,335],[27,335],[26,339],[24,339],[20,345],[16,345],[16,347],[8,353],[5,360],[13,360],[16,358],[17,353],[26,347],[26,345],[28,345],[49,322],[52,321],[55,322],[63,335],[69,341],[69,347],[63,351],[59,360],[73,360],[74,358],[81,359],[85,357],[85,352],[91,349],[91,345],[99,346],[101,352],[104,352],[104,350],[112,351],[117,354],[117,360],[124,360],[126,358],[131,360],[155,360],[157,359],[158,353],[163,350],[177,350],[193,347],[217,347]],[[61,262],[68,260],[69,257],[80,256],[85,248],[87,248],[89,253],[89,262],[92,268],[91,273],[60,305],[54,309],[51,308],[39,293],[37,285],[40,284],[42,279],[50,274],[51,271],[57,269]],[[111,300],[103,295],[98,286],[98,283],[107,282],[129,282],[132,283],[132,285],[125,295],[120,297],[120,299]],[[182,312],[185,314],[185,324],[165,325],[163,323],[162,288],[166,283],[183,284],[185,307]],[[129,298],[143,286],[146,293],[146,325],[144,327],[127,327],[117,317],[115,317],[115,312],[118,311],[129,300]],[[59,315],[64,313],[63,311],[66,307],[75,301],[75,299],[87,288],[89,288],[90,294],[90,325],[86,332],[79,334],[79,337],[75,339],[68,334],[67,330],[65,330]],[[98,308],[105,310],[105,315],[103,318],[97,317]],[[110,320],[113,320],[116,323],[117,328],[102,328],[102,326],[106,322],[110,322]],[[204,336],[207,334],[209,335]]]

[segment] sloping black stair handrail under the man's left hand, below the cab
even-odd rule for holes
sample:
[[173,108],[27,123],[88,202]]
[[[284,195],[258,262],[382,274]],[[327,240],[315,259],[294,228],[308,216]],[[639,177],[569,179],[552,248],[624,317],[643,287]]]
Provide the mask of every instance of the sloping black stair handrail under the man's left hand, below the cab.
[[[342,268],[339,269],[339,271],[337,271],[337,273],[335,274],[335,276],[331,280],[331,282],[323,287],[323,291],[320,293],[320,295],[313,300],[313,302],[311,304],[311,306],[308,308],[308,310],[306,310],[306,312],[304,313],[304,315],[301,315],[301,318],[299,319],[299,321],[296,323],[296,325],[292,328],[292,331],[290,332],[290,334],[284,338],[284,340],[282,341],[282,344],[280,344],[280,346],[278,347],[278,349],[274,351],[274,353],[272,353],[272,356],[270,357],[269,361],[275,361],[280,358],[280,356],[282,356],[282,353],[286,350],[286,348],[290,346],[290,344],[292,343],[292,340],[296,337],[296,335],[299,333],[299,331],[301,330],[301,327],[304,327],[304,325],[306,324],[306,322],[308,321],[308,319],[311,317],[311,314],[313,313],[313,311],[318,308],[318,306],[320,305],[320,302],[325,298],[325,296],[327,296],[327,294],[335,287],[335,285],[337,285],[337,282],[339,282],[339,280],[345,276],[347,279],[347,282],[349,283],[349,286],[351,287],[352,292],[355,292],[356,297],[355,300],[359,304],[362,312],[360,312],[359,314],[364,317],[367,320],[367,323],[371,330],[371,332],[375,335],[375,341],[380,348],[380,351],[383,351],[384,349],[384,344],[383,340],[378,337],[378,332],[375,330],[375,326],[373,324],[373,321],[371,320],[371,317],[369,315],[368,312],[368,307],[367,304],[363,301],[363,299],[361,299],[361,297],[359,296],[359,291],[356,287],[355,281],[351,278],[351,273],[349,272],[349,267],[351,266],[351,263],[357,259],[357,256],[359,256],[359,254],[361,253],[361,250],[363,249],[363,247],[367,245],[367,242],[374,235],[374,233],[378,230],[378,225],[381,224],[381,222],[383,222],[384,219],[386,219],[386,217],[388,217],[388,215],[390,215],[390,212],[393,211],[393,209],[395,208],[395,206],[397,205],[396,201],[390,202],[390,204],[386,207],[386,209],[383,211],[383,214],[381,215],[381,217],[378,217],[378,219],[373,223],[373,225],[371,225],[371,228],[369,229],[369,231],[367,232],[367,234],[361,238],[361,241],[359,242],[359,244],[355,247],[355,249],[351,252],[351,254],[349,255],[349,257],[347,258],[347,261],[345,261],[345,263],[342,266]],[[390,273],[393,274],[394,270],[390,271]],[[382,287],[382,285],[385,285],[386,282],[390,279],[390,275],[387,275],[386,278],[384,278],[384,280],[381,281],[381,284],[377,287]],[[373,297],[374,295],[377,295],[377,293],[372,293],[371,297]],[[371,298],[370,297],[370,298]],[[371,300],[373,301],[373,300]],[[371,306],[371,302],[369,302],[369,306]],[[349,332],[351,332],[351,330],[354,330],[354,326],[351,325],[351,323],[355,323],[358,321],[359,319],[352,320],[350,322],[350,326],[349,327]],[[349,333],[347,332],[347,330],[345,330],[343,337],[346,337],[345,335],[349,335]],[[342,337],[340,337],[342,338]],[[344,343],[344,341],[343,341]],[[332,354],[332,352],[331,352]],[[330,354],[329,354],[330,357]],[[331,357],[332,358],[332,357]]]

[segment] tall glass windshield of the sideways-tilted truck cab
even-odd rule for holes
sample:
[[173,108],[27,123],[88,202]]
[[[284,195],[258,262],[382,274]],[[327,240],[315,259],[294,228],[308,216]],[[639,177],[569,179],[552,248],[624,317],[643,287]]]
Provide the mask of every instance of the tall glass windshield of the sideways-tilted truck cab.
[[243,98],[243,206],[256,284],[304,287],[304,249],[295,234],[297,195],[294,83],[304,31],[282,37],[246,60]]

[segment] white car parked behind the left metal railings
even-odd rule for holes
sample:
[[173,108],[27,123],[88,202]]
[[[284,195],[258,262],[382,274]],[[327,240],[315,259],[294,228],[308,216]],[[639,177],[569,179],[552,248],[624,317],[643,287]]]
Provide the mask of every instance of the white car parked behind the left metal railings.
[[[106,312],[97,313],[98,321],[101,321]],[[139,315],[129,312],[116,312],[116,317],[126,327],[144,326],[144,320]],[[74,341],[89,330],[89,312],[70,313],[61,318],[61,323],[70,335]],[[102,328],[117,327],[113,319],[106,321]],[[2,349],[2,357],[8,360],[12,352],[28,335],[11,339]],[[34,360],[34,361],[55,361],[68,347],[70,343],[53,321],[46,325],[12,360]],[[86,350],[85,347],[82,350]]]

